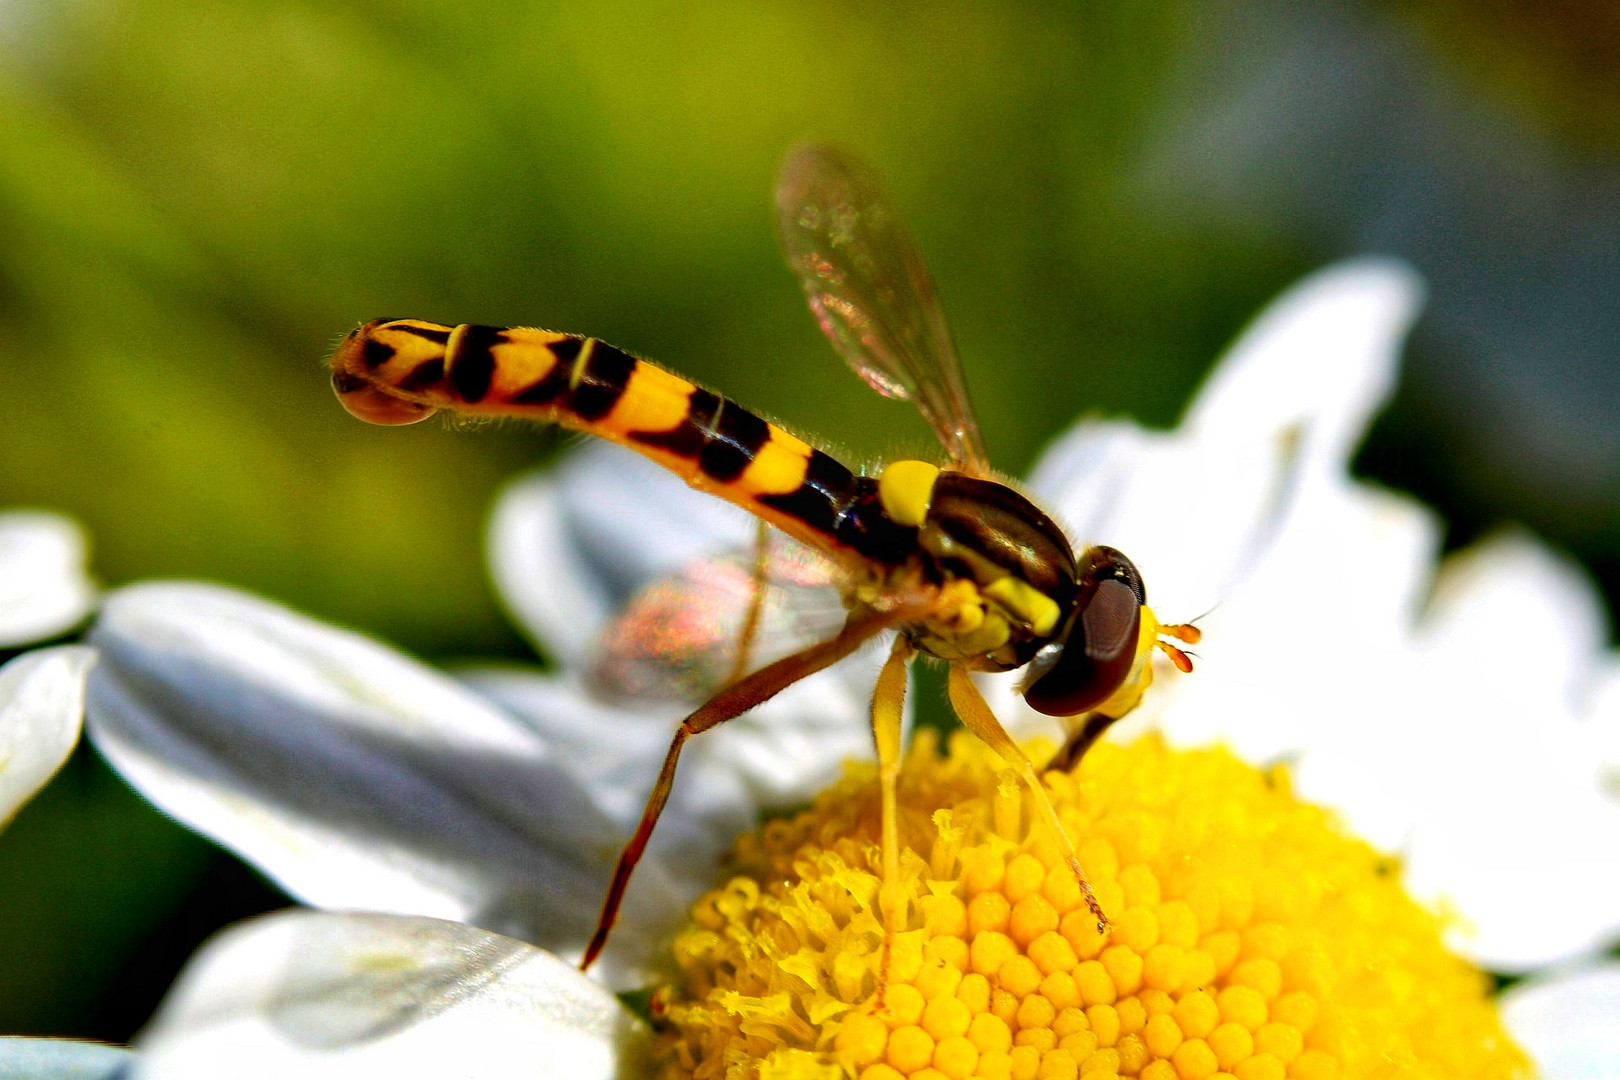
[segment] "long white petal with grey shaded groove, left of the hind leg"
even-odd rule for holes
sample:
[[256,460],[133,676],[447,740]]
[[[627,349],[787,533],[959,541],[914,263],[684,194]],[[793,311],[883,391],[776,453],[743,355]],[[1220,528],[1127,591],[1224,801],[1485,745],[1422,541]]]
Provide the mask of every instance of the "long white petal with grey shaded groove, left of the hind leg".
[[318,907],[557,949],[620,831],[523,724],[371,640],[207,585],[115,593],[91,735],[165,811]]

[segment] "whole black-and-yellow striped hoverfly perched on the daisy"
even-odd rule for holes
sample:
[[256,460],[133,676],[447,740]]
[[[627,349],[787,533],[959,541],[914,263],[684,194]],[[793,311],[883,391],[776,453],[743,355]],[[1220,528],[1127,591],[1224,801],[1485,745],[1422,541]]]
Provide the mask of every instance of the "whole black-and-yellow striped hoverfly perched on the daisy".
[[[901,460],[875,474],[857,473],[729,398],[572,334],[379,319],[353,330],[332,356],[332,385],[360,419],[410,424],[442,408],[541,419],[611,439],[748,510],[838,568],[847,614],[836,633],[737,670],[680,721],[580,967],[591,965],[612,929],[685,742],[889,630],[894,641],[872,701],[883,811],[880,905],[889,939],[906,925],[894,887],[896,780],[902,701],[919,653],[948,664],[957,716],[1029,785],[1068,847],[1103,931],[1108,918],[1035,766],[969,672],[1025,669],[1021,693],[1032,708],[1076,717],[1059,753],[1063,764],[1072,764],[1140,701],[1155,648],[1192,670],[1174,641],[1194,643],[1199,631],[1160,623],[1129,559],[1100,546],[1076,554],[1047,513],[996,479],[933,283],[873,173],[839,151],[799,147],[782,167],[776,202],[787,259],[823,332],[875,390],[917,405],[940,437],[943,463]],[[763,573],[755,575],[757,597]],[[758,623],[755,614],[744,623],[745,638]],[[747,651],[744,640],[739,654]]]

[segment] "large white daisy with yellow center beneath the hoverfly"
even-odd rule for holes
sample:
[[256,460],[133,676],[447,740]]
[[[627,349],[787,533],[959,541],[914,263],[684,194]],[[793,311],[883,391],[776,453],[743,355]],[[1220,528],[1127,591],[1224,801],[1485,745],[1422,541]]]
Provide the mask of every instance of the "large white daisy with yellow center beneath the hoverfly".
[[[870,766],[836,779],[870,756],[863,656],[693,740],[593,972],[661,986],[658,1035],[573,972],[684,711],[633,678],[601,696],[614,614],[650,581],[676,601],[714,585],[752,528],[609,449],[496,512],[496,578],[554,674],[455,680],[217,586],[113,594],[91,638],[97,746],[327,908],[209,946],[141,1069],[1520,1075],[1515,1038],[1578,1044],[1610,973],[1545,968],[1615,929],[1615,657],[1565,563],[1507,538],[1435,573],[1432,518],[1348,476],[1416,303],[1401,267],[1333,267],[1260,317],[1178,431],[1082,424],[1030,481],[1076,536],[1131,552],[1158,610],[1218,601],[1199,674],[1144,706],[1162,735],[1048,776],[1108,938],[995,756],[923,735],[901,790],[907,929],[881,947]],[[1230,750],[1174,748],[1210,742]],[[1542,972],[1507,1010],[1511,1038],[1456,950]],[[1591,1046],[1558,1069],[1620,1064]]]

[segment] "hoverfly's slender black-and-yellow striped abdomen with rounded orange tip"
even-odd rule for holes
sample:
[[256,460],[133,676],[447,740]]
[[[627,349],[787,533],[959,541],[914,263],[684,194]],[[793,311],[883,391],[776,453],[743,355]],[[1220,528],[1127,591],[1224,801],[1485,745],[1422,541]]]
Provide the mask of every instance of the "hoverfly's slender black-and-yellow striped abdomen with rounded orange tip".
[[875,481],[747,408],[606,342],[525,327],[379,319],[332,356],[355,416],[408,424],[447,408],[523,416],[611,439],[789,536],[897,562],[915,529],[889,523]]

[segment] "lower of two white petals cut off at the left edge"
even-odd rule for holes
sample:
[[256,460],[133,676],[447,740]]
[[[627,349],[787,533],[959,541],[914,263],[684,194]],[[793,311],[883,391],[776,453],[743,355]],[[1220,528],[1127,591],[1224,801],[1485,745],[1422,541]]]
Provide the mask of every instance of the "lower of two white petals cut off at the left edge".
[[62,644],[0,665],[0,827],[79,742],[84,675],[94,662],[96,649]]

